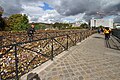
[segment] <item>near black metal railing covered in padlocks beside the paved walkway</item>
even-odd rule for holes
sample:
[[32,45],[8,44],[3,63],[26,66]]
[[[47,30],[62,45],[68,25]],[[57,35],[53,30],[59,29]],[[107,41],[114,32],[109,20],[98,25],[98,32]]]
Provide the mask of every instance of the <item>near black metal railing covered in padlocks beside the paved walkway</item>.
[[[0,46],[0,76],[2,80],[16,79],[42,63],[53,60],[61,52],[84,40],[96,31],[69,31],[45,33],[33,41],[17,42]],[[39,35],[39,34],[36,34]]]

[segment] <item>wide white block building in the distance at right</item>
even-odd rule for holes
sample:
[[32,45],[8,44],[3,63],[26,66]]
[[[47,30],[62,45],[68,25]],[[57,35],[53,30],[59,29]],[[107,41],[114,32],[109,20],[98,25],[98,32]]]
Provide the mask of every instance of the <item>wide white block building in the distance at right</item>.
[[90,20],[91,27],[104,26],[104,27],[113,28],[113,23],[114,23],[113,19],[91,19]]

